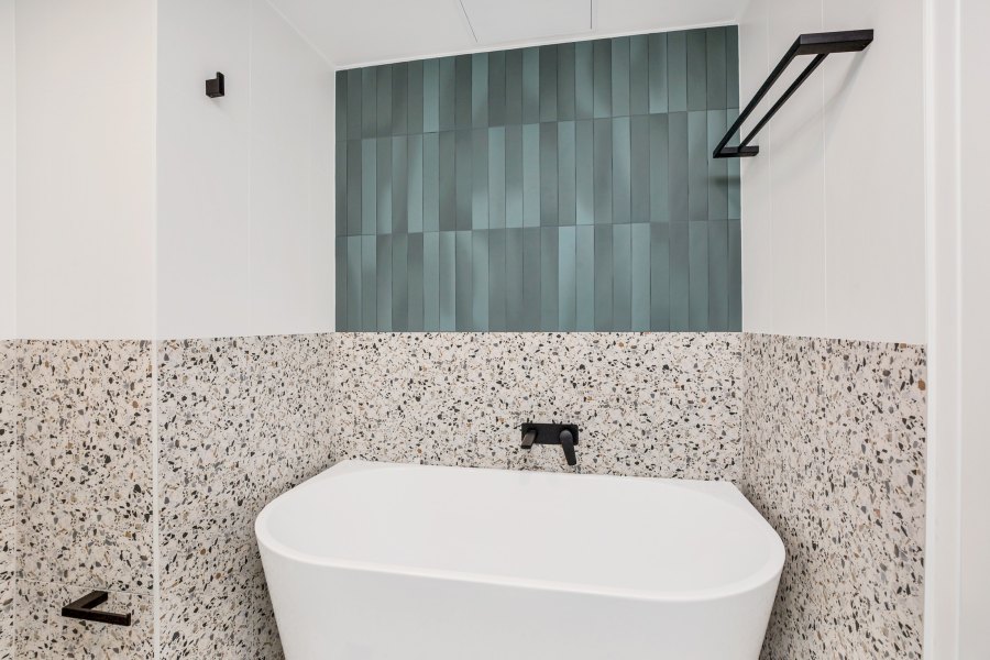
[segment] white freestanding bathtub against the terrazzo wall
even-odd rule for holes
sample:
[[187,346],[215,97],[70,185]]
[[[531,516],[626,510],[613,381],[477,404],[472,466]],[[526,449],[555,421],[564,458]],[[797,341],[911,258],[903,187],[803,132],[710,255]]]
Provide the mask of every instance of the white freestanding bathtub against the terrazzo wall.
[[287,660],[755,660],[784,561],[728,483],[363,461],[255,532]]

